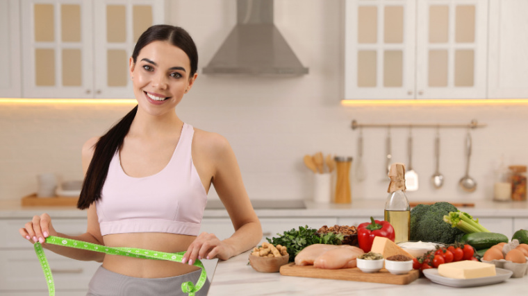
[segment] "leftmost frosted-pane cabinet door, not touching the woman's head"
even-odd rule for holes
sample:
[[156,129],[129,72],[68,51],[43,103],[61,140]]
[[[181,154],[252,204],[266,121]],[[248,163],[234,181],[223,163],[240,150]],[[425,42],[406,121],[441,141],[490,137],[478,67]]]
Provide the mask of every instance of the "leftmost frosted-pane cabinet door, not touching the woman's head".
[[22,1],[22,95],[92,98],[89,0]]

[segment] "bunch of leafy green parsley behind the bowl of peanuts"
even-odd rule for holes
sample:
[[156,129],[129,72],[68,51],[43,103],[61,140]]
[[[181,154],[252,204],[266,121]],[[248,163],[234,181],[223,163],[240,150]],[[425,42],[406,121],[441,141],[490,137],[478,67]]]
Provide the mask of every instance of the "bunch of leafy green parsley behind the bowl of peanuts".
[[279,237],[266,238],[268,243],[272,245],[283,245],[290,254],[290,262],[295,260],[295,256],[299,254],[308,245],[315,243],[324,243],[326,245],[341,245],[343,243],[343,234],[317,234],[317,229],[313,229],[306,225],[299,226],[299,230],[292,228],[283,234],[277,234]]

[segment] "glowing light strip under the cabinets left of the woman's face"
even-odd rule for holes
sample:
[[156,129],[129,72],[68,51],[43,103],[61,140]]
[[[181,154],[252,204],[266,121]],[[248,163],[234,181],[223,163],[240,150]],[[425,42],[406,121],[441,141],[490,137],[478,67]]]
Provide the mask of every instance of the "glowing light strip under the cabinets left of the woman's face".
[[137,104],[135,98],[0,98],[0,104]]

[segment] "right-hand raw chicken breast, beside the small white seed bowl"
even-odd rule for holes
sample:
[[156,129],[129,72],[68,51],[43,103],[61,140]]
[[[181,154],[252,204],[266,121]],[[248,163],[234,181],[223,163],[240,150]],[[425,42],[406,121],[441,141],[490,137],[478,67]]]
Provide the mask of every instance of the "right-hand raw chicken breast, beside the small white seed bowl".
[[324,269],[354,268],[356,258],[363,253],[358,247],[343,245],[321,254],[313,261],[313,266]]

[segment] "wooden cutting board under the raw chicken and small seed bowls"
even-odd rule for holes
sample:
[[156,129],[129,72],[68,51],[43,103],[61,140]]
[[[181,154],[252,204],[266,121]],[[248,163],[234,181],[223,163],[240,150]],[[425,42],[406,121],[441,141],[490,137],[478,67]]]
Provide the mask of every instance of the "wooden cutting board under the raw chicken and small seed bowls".
[[368,281],[370,283],[406,285],[418,279],[419,270],[411,270],[406,275],[393,275],[385,268],[379,272],[365,273],[359,268],[345,269],[322,269],[315,268],[313,265],[298,266],[295,263],[282,265],[281,275],[292,277],[313,277],[317,279],[343,279],[345,281]]

